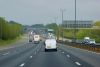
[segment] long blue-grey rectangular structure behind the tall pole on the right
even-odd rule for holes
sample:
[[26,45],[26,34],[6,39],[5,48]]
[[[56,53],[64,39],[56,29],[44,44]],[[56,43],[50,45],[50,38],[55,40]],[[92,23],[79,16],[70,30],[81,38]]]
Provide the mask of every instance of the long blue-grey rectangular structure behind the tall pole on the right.
[[66,21],[63,21],[62,25],[65,28],[92,28],[93,21],[81,21],[81,20],[77,20],[76,24],[75,24],[74,20],[66,20]]

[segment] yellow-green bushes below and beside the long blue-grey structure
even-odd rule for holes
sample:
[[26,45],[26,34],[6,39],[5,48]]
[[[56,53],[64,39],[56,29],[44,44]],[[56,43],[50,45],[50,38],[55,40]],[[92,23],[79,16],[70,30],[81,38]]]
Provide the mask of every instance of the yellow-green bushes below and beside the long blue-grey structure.
[[[91,39],[95,39],[96,42],[100,42],[100,21],[97,21],[93,25],[94,29],[80,29],[77,30],[77,39],[83,39],[84,37],[90,37]],[[64,36],[66,38],[73,38],[73,30],[64,31]]]

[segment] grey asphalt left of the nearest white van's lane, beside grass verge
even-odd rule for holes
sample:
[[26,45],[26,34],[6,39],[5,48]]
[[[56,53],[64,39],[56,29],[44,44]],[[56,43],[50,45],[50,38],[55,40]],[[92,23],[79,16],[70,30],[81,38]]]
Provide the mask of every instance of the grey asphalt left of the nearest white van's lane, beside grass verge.
[[[40,44],[26,43],[24,45],[0,51],[0,67],[15,67],[23,61],[35,55],[41,46]],[[37,49],[38,48],[38,49]]]

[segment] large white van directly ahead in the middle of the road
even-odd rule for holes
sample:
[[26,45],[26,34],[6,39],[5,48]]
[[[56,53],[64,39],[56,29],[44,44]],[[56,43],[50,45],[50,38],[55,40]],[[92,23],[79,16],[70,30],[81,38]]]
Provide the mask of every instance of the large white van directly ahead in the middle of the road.
[[57,42],[55,38],[48,38],[45,40],[45,52],[48,50],[57,51]]

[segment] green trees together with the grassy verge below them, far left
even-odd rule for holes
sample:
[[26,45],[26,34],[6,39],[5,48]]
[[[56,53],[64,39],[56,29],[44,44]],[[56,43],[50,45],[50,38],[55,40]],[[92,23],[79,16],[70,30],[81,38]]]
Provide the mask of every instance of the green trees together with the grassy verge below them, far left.
[[0,17],[0,46],[10,45],[20,39],[23,34],[23,25],[15,21],[7,21]]

